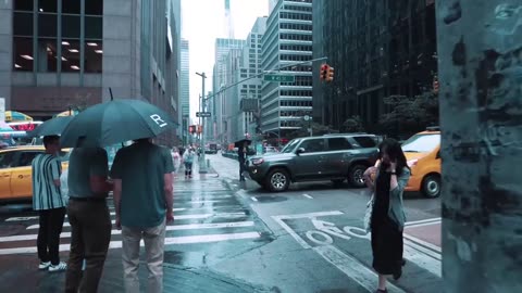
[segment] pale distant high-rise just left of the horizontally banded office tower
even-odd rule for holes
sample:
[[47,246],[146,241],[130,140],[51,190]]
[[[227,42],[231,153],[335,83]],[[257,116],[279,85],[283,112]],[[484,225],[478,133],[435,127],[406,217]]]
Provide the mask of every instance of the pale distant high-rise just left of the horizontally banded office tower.
[[[214,92],[214,95],[209,99],[207,105],[213,110],[212,119],[214,122],[214,126],[211,130],[211,133],[213,135],[212,140],[222,143],[225,143],[227,140],[226,133],[229,132],[229,130],[226,119],[231,113],[229,110],[226,109],[226,91],[222,91],[222,89],[228,85],[232,85],[232,80],[235,78],[227,72],[227,68],[233,67],[231,64],[228,64],[228,61],[231,60],[228,52],[231,50],[241,50],[244,46],[245,40],[222,38],[215,39],[215,64],[212,75],[212,92]],[[239,71],[238,68],[239,67],[237,67],[237,72]]]

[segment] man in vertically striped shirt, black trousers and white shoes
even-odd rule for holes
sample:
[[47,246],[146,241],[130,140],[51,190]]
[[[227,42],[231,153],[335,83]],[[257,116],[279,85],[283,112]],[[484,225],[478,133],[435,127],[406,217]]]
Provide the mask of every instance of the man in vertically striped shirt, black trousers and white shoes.
[[38,211],[40,228],[38,230],[39,269],[63,271],[67,268],[60,262],[59,246],[65,202],[60,192],[62,164],[57,154],[60,151],[60,137],[44,138],[46,152],[33,160],[33,208]]

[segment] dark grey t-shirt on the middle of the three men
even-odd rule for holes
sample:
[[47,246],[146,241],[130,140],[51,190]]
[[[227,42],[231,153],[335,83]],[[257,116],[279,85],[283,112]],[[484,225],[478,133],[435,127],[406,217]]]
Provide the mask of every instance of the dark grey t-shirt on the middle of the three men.
[[72,198],[103,198],[107,192],[95,193],[90,188],[90,177],[107,177],[109,163],[102,148],[77,148],[69,158],[69,194]]

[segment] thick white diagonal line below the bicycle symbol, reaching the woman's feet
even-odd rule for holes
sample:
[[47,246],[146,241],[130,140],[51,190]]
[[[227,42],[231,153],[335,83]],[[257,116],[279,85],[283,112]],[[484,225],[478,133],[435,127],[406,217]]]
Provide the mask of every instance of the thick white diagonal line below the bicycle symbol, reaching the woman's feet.
[[[375,291],[377,282],[377,275],[371,269],[362,265],[359,260],[343,253],[340,250],[333,245],[322,245],[313,247],[319,255],[321,255],[326,262],[337,267],[348,278],[358,282],[361,286],[370,292]],[[397,288],[393,283],[387,284],[388,292],[405,293],[403,290]]]

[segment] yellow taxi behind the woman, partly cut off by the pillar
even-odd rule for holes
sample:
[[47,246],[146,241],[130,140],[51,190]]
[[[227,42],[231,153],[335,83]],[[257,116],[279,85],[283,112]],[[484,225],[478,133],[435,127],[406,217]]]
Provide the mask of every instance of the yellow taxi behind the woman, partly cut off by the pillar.
[[427,127],[402,143],[411,168],[406,191],[421,191],[426,198],[440,195],[440,129]]

